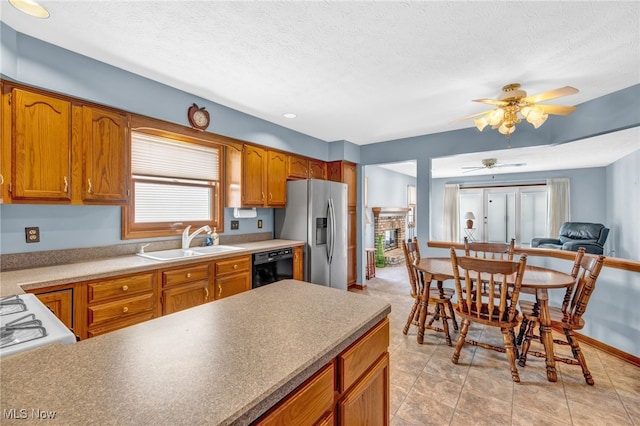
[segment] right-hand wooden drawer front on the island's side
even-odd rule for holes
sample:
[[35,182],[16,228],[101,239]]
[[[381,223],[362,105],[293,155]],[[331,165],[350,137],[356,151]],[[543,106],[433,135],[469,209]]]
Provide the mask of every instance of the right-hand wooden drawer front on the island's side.
[[385,318],[338,355],[338,391],[349,389],[389,347],[389,319]]

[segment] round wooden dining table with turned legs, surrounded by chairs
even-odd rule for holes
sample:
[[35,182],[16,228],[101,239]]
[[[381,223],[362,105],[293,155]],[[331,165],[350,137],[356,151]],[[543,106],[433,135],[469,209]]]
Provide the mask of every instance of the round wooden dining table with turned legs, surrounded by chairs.
[[[446,281],[453,279],[453,267],[448,257],[425,257],[414,263],[422,276],[422,298],[420,303],[420,317],[418,324],[418,343],[424,342],[425,321],[427,317],[427,300],[432,281]],[[547,379],[550,382],[558,380],[556,362],[553,355],[553,336],[551,333],[551,319],[549,317],[549,289],[567,288],[575,283],[570,274],[539,266],[527,265],[522,279],[522,293],[535,293],[536,302],[540,309],[540,333],[546,355]],[[530,291],[527,291],[530,290]]]

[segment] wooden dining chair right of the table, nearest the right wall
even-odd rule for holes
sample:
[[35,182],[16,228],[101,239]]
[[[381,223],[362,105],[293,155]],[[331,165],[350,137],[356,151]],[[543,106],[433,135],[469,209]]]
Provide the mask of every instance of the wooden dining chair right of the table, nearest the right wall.
[[[582,254],[578,263],[578,271],[575,271],[576,283],[573,285],[573,293],[569,297],[565,297],[562,306],[549,307],[549,319],[551,320],[551,327],[554,329],[562,329],[565,338],[565,340],[554,339],[553,343],[571,346],[571,353],[573,354],[573,358],[569,358],[560,356],[554,351],[555,360],[564,362],[565,364],[579,365],[582,368],[582,374],[587,384],[593,385],[595,382],[591,376],[591,372],[589,372],[587,368],[587,361],[584,358],[584,354],[580,350],[580,344],[576,339],[575,330],[581,330],[584,327],[585,322],[582,316],[587,310],[591,293],[593,293],[596,287],[596,281],[600,275],[605,257],[602,255],[591,256],[585,255],[584,253]],[[579,252],[578,255],[580,255]],[[544,352],[529,350],[531,341],[534,338],[540,339],[540,336],[534,335],[536,326],[540,324],[537,305],[534,302],[521,301],[520,309],[522,310],[523,320],[527,321],[526,333],[524,341],[522,342],[522,353],[518,361],[518,364],[524,367],[528,354],[537,357],[546,357],[546,354]]]

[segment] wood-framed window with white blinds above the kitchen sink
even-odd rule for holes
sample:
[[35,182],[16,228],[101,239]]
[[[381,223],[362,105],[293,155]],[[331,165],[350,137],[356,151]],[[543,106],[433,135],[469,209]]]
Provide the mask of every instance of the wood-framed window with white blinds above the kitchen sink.
[[220,151],[213,144],[133,131],[130,237],[175,234],[186,225],[217,226]]

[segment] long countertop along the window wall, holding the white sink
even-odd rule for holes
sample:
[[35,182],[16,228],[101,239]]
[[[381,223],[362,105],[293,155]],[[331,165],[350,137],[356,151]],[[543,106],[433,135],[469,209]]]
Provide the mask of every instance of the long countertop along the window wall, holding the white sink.
[[186,265],[207,260],[223,259],[277,248],[303,245],[303,241],[265,240],[243,244],[228,244],[242,247],[242,250],[222,254],[210,254],[171,261],[157,261],[137,255],[110,257],[88,262],[66,265],[46,266],[42,268],[21,269],[0,272],[0,297],[24,293],[42,287],[69,284],[78,281],[105,278],[114,275],[147,271],[158,268]]

